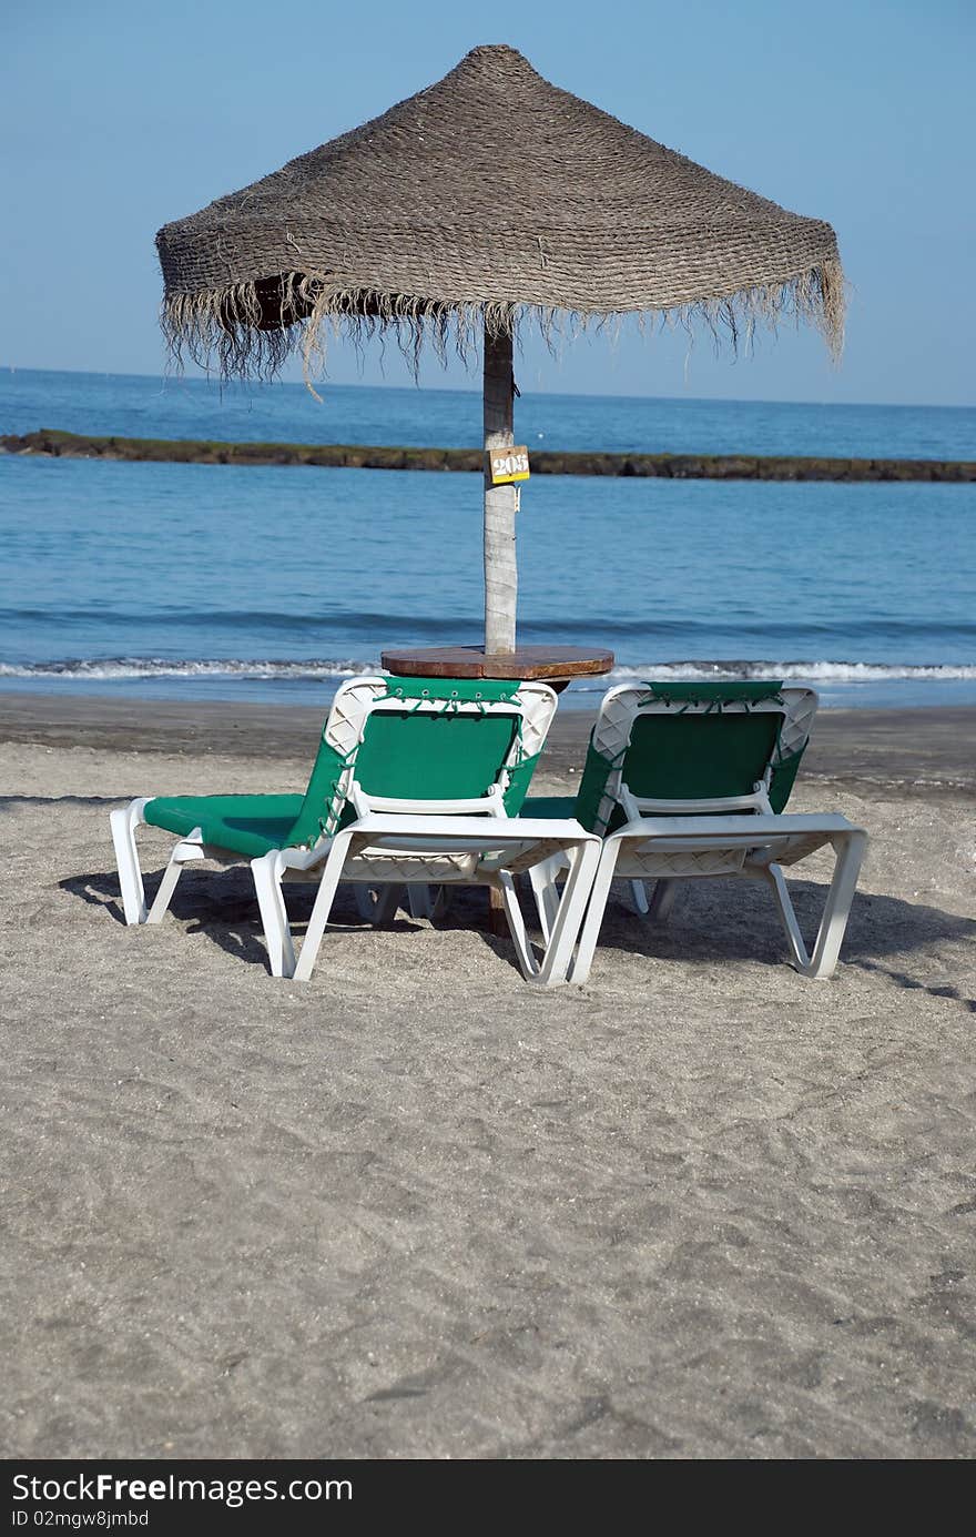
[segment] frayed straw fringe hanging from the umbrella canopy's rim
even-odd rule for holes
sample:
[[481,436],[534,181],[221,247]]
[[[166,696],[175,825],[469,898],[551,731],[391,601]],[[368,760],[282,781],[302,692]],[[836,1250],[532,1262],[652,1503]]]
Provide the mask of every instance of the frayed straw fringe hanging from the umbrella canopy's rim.
[[[271,380],[292,354],[301,355],[304,381],[318,400],[315,380],[326,375],[327,332],[361,349],[373,335],[393,334],[413,377],[418,377],[424,346],[447,361],[452,350],[472,367],[481,355],[483,332],[524,337],[535,323],[550,350],[559,340],[609,327],[616,337],[630,312],[610,314],[559,310],[538,304],[498,301],[415,300],[378,294],[354,286],[338,287],[332,277],[289,272],[281,278],[283,317],[295,315],[274,329],[261,329],[266,310],[255,283],[237,283],[201,294],[174,294],[163,303],[160,323],[171,361],[181,370],[184,358],[221,378]],[[641,329],[681,326],[692,330],[704,321],[715,346],[722,341],[736,352],[752,349],[759,326],[776,330],[779,321],[813,323],[824,335],[830,355],[839,363],[844,349],[845,280],[841,263],[827,258],[805,272],[778,284],[739,289],[725,298],[701,300],[670,309],[636,314]],[[264,321],[266,323],[266,321]]]

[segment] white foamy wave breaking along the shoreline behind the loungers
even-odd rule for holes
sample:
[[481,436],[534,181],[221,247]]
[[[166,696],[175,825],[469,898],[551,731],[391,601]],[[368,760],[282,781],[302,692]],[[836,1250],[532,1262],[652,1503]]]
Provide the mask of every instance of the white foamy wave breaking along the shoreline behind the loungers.
[[[60,678],[114,681],[126,678],[241,678],[321,681],[380,672],[378,661],[272,659],[207,656],[175,659],[164,656],[81,656],[49,662],[0,662],[0,678]],[[782,679],[784,682],[915,682],[976,681],[976,664],[968,662],[848,662],[848,661],[682,661],[618,666],[610,678],[586,678],[579,686],[603,692],[609,681],[630,678],[670,679],[672,682],[732,682],[735,679]]]

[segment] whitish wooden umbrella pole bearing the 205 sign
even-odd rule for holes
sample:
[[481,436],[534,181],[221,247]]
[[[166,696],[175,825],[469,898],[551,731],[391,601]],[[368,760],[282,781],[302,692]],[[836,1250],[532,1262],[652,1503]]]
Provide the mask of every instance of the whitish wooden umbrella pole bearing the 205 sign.
[[510,449],[512,332],[484,330],[484,649],[493,655],[515,650],[515,486],[492,486],[489,449]]

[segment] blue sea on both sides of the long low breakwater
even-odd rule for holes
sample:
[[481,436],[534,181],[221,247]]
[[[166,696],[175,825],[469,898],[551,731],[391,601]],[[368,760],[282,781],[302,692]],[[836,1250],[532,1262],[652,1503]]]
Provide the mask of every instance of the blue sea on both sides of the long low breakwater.
[[[475,447],[476,390],[0,373],[0,433]],[[529,449],[976,458],[976,410],[532,395]],[[976,487],[536,476],[520,639],[610,681],[788,678],[976,704]],[[476,644],[481,476],[0,453],[0,687],[327,704],[387,646]]]

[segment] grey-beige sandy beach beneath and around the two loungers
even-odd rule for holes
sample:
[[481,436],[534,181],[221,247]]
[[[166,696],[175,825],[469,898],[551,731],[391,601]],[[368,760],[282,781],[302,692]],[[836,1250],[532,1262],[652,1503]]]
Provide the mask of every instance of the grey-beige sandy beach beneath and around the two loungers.
[[246,870],[126,930],[109,810],[303,788],[320,724],[0,696],[2,1454],[971,1457],[976,712],[821,716],[790,808],[871,835],[832,982],[722,882],[549,993],[483,895],[341,902],[306,987]]

